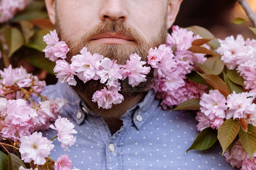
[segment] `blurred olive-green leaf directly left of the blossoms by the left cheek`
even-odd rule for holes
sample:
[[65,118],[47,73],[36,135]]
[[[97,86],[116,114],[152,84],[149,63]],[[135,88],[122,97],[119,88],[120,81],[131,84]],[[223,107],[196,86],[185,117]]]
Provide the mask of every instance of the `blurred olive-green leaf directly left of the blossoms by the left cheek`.
[[43,29],[35,32],[35,35],[31,38],[30,42],[26,46],[34,48],[40,52],[43,51],[43,49],[46,47],[46,43],[43,41],[43,36],[48,34],[50,30],[51,29]]

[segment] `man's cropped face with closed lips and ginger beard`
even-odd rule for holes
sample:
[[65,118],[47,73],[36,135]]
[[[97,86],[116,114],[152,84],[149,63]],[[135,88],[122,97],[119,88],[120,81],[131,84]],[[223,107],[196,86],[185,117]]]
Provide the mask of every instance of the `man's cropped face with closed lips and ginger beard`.
[[[55,28],[70,47],[69,62],[83,47],[119,64],[132,53],[146,61],[151,47],[166,43],[168,7],[168,0],[55,0]],[[88,91],[91,85],[75,90],[92,96],[102,88],[93,82],[96,88]]]

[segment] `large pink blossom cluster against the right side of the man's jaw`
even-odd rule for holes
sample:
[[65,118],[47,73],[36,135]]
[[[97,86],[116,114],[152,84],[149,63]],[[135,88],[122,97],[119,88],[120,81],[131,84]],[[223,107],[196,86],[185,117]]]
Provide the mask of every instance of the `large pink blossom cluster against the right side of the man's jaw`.
[[[164,108],[199,98],[205,93],[207,86],[193,83],[185,76],[194,69],[194,62],[203,63],[207,59],[204,54],[194,54],[189,50],[192,42],[200,38],[192,31],[173,26],[166,45],[149,50],[148,63],[155,68],[151,87],[157,98],[163,99],[161,104]],[[175,46],[172,52],[171,47]]]

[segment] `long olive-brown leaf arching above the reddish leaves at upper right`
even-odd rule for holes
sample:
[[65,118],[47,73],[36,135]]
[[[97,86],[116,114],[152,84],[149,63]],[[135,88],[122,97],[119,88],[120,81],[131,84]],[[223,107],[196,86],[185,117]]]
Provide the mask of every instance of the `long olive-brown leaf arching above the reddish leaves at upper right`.
[[[203,39],[215,38],[215,36],[209,30],[200,26],[191,26],[191,27],[187,27],[187,29],[188,31],[192,31],[195,35],[200,35]],[[213,39],[207,44],[212,46],[215,49],[221,46],[217,39]]]

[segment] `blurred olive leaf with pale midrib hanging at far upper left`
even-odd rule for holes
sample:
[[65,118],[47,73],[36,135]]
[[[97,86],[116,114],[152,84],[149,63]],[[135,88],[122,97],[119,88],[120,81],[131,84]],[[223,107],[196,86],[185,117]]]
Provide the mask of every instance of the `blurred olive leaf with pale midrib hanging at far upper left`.
[[4,29],[4,38],[9,50],[9,57],[13,55],[22,45],[24,45],[24,38],[21,31],[17,28],[7,28]]

